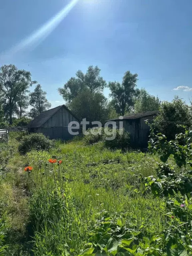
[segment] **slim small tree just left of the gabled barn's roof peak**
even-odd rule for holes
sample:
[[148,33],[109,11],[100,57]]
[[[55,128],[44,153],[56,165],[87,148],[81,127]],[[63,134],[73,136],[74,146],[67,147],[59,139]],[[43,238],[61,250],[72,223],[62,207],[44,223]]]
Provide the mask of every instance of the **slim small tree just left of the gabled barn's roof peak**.
[[29,94],[29,104],[32,106],[32,109],[28,115],[31,118],[35,118],[41,112],[51,107],[51,103],[46,99],[46,94],[47,93],[42,90],[40,84],[36,85],[34,91]]

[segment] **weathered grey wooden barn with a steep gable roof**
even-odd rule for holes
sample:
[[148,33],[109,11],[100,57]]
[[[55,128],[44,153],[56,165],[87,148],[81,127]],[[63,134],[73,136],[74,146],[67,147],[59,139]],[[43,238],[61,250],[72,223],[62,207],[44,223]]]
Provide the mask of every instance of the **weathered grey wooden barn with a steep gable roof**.
[[[61,105],[42,112],[31,121],[28,128],[29,132],[43,133],[50,139],[69,140],[73,138],[73,135],[68,132],[68,125],[71,121],[80,123],[65,105]],[[73,130],[73,132],[76,131],[78,130]]]

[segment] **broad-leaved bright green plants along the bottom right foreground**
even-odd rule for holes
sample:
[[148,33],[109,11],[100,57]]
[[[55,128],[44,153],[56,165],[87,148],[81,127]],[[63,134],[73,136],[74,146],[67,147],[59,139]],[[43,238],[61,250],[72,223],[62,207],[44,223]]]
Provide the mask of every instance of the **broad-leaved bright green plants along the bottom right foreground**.
[[124,216],[102,217],[90,232],[89,243],[79,256],[87,255],[191,255],[192,233],[173,225],[161,233],[150,233],[145,225],[139,230]]

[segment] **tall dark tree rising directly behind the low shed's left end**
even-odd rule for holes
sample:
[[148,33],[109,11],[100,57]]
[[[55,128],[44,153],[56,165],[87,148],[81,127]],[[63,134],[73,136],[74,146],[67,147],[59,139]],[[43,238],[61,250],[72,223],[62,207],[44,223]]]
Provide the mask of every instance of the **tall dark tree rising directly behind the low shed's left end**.
[[117,113],[124,115],[125,111],[131,111],[134,106],[134,98],[138,95],[137,74],[125,72],[122,83],[109,82],[110,96]]

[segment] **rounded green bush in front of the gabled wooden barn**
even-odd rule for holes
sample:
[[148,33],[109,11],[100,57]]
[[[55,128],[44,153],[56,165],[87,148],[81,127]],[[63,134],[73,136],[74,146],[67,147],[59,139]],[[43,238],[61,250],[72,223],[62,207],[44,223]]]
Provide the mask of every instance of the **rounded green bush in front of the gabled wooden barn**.
[[54,141],[47,138],[42,133],[32,133],[23,136],[19,144],[19,152],[25,154],[31,150],[49,150],[54,146]]

